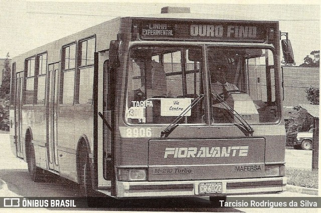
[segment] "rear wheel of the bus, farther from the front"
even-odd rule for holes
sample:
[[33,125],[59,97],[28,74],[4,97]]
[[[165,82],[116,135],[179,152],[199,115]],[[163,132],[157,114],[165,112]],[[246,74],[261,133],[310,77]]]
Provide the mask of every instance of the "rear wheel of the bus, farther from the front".
[[28,170],[31,173],[31,178],[34,182],[44,180],[44,170],[36,166],[35,148],[32,143],[29,144],[28,150]]

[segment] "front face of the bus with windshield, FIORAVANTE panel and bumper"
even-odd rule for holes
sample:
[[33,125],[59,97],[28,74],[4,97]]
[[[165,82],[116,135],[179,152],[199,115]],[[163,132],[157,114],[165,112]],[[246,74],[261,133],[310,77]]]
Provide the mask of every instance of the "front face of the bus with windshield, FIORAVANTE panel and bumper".
[[209,22],[133,21],[116,196],[285,190],[278,25]]

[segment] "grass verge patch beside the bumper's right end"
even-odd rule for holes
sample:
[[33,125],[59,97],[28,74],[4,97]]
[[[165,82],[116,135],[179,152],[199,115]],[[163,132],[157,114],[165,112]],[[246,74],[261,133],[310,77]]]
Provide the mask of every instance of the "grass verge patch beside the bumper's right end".
[[286,168],[287,184],[318,188],[318,171],[298,168]]

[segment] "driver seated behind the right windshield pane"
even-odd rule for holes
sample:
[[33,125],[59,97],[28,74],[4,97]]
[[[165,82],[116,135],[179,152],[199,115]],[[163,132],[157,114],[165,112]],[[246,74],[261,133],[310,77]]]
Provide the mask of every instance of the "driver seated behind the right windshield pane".
[[217,65],[211,71],[211,91],[213,94],[224,94],[231,90],[238,90],[235,84],[226,80],[228,69],[225,65]]

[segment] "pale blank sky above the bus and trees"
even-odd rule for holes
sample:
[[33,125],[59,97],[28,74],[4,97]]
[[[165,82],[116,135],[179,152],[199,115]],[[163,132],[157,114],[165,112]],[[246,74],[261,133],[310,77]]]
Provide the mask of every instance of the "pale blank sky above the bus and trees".
[[[296,65],[302,64],[311,51],[320,49],[320,5],[311,5],[319,4],[317,1],[298,1],[293,4],[291,1],[271,0],[268,2],[274,4],[262,4],[268,2],[252,0],[221,4],[223,2],[226,1],[0,0],[0,58],[6,58],[8,52],[12,58],[119,16],[158,14],[166,6],[190,7],[191,13],[209,14],[214,19],[233,16],[240,20],[279,21],[280,30],[287,32],[291,40]],[[246,4],[249,2],[252,4]]]

